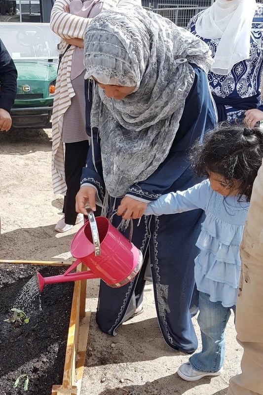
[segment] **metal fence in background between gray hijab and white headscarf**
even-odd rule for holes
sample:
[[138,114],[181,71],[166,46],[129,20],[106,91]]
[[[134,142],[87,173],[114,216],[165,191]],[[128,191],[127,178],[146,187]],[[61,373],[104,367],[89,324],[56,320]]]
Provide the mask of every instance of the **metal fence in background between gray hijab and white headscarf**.
[[[198,12],[212,5],[214,0],[142,0],[148,10],[170,19],[177,26],[186,28],[189,20]],[[263,0],[257,0],[263,3]]]

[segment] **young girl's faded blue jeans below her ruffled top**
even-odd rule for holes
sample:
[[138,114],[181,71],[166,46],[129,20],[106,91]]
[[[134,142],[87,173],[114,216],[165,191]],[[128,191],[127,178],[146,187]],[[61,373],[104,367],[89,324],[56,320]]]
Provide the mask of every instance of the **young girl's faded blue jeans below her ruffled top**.
[[199,316],[202,351],[189,358],[195,370],[218,372],[225,360],[225,326],[235,306],[224,307],[221,302],[210,302],[209,295],[199,292]]

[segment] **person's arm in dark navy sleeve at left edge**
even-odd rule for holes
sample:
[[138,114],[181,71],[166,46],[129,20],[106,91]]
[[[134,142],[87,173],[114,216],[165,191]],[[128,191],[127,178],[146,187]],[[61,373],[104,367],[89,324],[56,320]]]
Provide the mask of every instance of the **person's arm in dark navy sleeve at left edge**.
[[15,64],[0,40],[0,130],[8,131],[12,125],[10,116],[17,90]]

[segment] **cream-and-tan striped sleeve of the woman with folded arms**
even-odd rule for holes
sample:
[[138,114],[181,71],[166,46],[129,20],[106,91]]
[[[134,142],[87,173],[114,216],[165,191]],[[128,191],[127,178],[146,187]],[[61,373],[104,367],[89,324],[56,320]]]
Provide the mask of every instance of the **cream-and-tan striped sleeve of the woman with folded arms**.
[[91,18],[69,14],[65,9],[70,0],[56,0],[50,15],[50,28],[62,39],[84,39]]

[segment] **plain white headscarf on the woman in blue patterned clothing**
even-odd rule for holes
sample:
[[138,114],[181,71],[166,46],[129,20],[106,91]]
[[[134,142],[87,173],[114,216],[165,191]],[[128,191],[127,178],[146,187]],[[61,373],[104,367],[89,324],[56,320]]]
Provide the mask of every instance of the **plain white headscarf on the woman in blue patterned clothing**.
[[256,0],[216,0],[197,18],[195,31],[204,39],[221,39],[211,71],[226,76],[249,58]]

